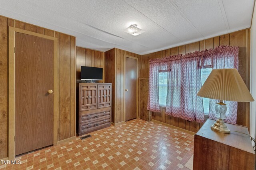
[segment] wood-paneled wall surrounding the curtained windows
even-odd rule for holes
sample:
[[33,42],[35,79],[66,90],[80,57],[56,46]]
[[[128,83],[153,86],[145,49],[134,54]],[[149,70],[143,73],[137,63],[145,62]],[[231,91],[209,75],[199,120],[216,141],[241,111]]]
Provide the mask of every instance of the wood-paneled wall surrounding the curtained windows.
[[[171,49],[166,49],[163,51],[158,51],[155,53],[150,53],[147,55],[142,55],[141,57],[141,77],[148,77],[149,70],[149,60],[155,58],[167,57],[176,54],[186,54],[192,53],[194,51],[202,51],[204,49],[211,49],[218,47],[219,45],[231,45],[239,46],[239,68],[238,71],[242,76],[245,84],[250,89],[250,29],[244,29],[241,31],[236,31],[234,33],[229,33],[226,35],[221,35],[218,37],[213,37],[203,41],[198,41],[195,43],[190,43],[187,45],[182,45],[179,47],[174,47]],[[140,107],[139,107],[140,108]],[[249,127],[249,103],[238,102],[238,117],[237,124]],[[153,112],[152,119],[180,127],[189,131],[197,132],[202,123],[196,123],[193,121],[186,121],[177,117],[172,117],[165,114],[165,108],[161,108],[160,113]]]

